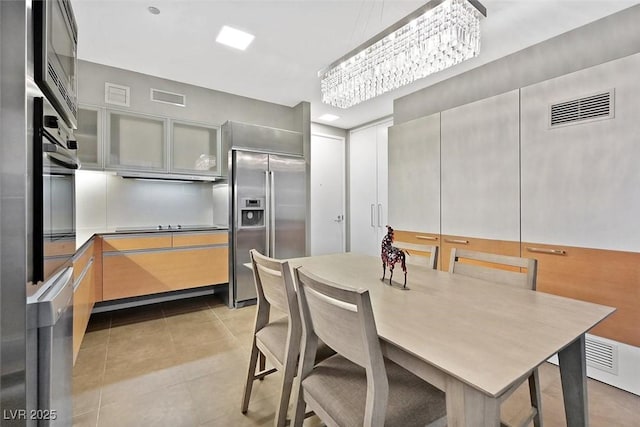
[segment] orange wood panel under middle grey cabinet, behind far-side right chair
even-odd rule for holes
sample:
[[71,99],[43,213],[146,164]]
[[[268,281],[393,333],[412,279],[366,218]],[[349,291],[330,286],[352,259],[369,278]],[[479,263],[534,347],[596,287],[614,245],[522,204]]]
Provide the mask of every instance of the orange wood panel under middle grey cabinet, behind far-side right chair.
[[[466,237],[466,236],[451,236],[451,235],[442,235],[442,243],[440,246],[440,259],[438,262],[439,270],[449,271],[449,262],[451,258],[451,249],[452,248],[462,248],[468,249],[471,251],[478,252],[488,252],[492,254],[498,255],[510,255],[510,256],[520,256],[520,242],[513,242],[509,240],[491,240],[491,239],[479,239],[477,237]],[[467,242],[466,244],[463,242]],[[482,263],[482,262],[472,262],[467,260],[471,264],[477,263],[479,265],[487,265],[494,268],[503,268],[506,270],[511,270],[511,267],[505,266],[496,266],[494,264]]]

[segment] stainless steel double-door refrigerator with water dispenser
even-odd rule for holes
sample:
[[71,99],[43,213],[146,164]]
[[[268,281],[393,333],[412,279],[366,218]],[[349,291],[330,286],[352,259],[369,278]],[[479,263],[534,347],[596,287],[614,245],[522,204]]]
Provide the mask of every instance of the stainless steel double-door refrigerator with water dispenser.
[[306,167],[302,157],[231,151],[229,305],[255,303],[249,251],[305,256]]

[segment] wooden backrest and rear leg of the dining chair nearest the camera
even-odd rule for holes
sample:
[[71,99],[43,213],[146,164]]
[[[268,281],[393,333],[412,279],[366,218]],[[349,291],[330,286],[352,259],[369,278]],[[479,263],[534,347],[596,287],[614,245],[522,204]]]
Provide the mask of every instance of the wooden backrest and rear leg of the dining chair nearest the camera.
[[325,281],[304,268],[297,268],[295,274],[302,319],[300,380],[313,368],[320,338],[338,354],[365,368],[365,425],[382,425],[389,384],[369,291]]

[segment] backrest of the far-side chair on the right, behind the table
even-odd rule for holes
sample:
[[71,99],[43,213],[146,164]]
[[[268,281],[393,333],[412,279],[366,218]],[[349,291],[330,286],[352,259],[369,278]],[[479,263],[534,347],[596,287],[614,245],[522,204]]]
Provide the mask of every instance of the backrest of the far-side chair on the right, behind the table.
[[537,260],[531,258],[453,248],[449,273],[535,290],[537,267]]

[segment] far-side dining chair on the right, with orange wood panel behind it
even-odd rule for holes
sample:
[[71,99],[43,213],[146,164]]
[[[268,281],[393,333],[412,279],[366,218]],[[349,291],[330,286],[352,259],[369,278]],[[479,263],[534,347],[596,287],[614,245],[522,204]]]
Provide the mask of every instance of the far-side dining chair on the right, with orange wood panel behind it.
[[[531,258],[520,258],[497,255],[468,249],[453,248],[449,261],[449,273],[462,274],[493,283],[515,286],[522,289],[536,290],[538,262]],[[531,407],[516,422],[501,421],[503,426],[528,426],[533,421],[534,427],[542,427],[542,396],[538,368],[528,377]],[[505,401],[521,383],[508,390],[501,402]]]

